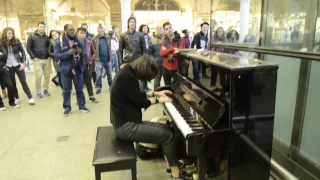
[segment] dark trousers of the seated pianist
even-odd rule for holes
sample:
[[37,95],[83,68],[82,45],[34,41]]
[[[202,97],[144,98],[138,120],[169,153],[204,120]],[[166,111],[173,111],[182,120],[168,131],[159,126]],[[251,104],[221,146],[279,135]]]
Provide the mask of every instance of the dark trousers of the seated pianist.
[[115,129],[117,137],[127,141],[160,144],[170,167],[178,165],[175,138],[166,124],[127,122]]

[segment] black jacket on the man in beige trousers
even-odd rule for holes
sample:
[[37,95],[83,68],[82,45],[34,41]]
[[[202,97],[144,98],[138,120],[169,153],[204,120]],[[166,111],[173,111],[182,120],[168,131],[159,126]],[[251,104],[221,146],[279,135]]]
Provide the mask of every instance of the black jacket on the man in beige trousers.
[[31,59],[47,59],[49,57],[49,37],[46,34],[40,36],[36,31],[28,37],[27,51]]

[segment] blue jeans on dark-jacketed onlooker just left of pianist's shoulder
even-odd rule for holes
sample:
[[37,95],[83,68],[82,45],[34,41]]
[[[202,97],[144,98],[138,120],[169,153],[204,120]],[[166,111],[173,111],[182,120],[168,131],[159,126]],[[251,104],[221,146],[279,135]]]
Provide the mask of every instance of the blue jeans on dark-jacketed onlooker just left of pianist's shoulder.
[[112,64],[111,61],[96,61],[96,71],[97,71],[97,89],[102,89],[102,73],[103,68],[105,68],[108,78],[109,87],[112,83]]

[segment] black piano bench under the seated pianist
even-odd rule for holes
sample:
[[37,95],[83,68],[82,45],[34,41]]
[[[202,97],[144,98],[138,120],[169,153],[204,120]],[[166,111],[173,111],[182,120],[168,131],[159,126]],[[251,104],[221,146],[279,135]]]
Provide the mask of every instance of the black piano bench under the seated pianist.
[[102,172],[126,169],[137,180],[136,162],[133,142],[118,139],[113,127],[98,127],[92,162],[96,180],[101,180]]

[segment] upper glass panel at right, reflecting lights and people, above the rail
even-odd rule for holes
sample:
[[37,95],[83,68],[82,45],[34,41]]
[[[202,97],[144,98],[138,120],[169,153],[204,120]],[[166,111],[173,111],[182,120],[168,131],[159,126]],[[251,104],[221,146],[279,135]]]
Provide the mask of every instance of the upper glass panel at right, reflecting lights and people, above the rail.
[[[311,1],[268,1],[265,46],[300,50],[303,44]],[[311,13],[311,12],[310,12]]]

